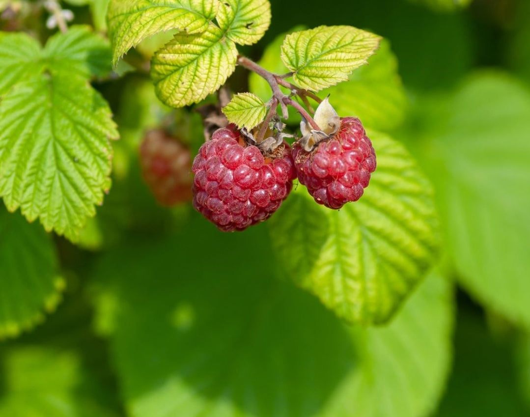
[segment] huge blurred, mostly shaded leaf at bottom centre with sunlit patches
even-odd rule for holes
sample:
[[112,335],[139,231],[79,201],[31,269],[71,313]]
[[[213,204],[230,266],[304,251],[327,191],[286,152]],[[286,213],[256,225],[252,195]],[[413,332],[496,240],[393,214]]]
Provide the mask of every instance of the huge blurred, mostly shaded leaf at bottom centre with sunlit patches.
[[112,353],[129,415],[431,411],[451,351],[447,282],[431,277],[387,327],[344,327],[306,292],[275,279],[263,232],[219,234],[196,216],[182,235],[129,239],[101,261],[96,274],[113,294],[105,297],[113,307],[103,308],[114,315]]

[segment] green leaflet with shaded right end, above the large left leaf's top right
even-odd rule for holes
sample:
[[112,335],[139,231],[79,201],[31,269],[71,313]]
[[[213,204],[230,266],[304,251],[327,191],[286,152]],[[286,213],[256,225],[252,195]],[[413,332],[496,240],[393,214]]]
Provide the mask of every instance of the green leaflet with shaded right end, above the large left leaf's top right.
[[104,77],[112,70],[108,40],[95,34],[90,26],[72,26],[66,33],[55,34],[42,55],[52,71],[66,75]]

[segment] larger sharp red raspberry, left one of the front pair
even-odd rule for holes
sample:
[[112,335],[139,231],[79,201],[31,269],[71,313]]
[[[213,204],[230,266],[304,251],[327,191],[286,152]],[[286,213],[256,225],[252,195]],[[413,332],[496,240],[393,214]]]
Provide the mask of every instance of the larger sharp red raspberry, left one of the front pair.
[[217,129],[192,166],[193,206],[224,232],[267,220],[286,199],[296,178],[287,143],[264,157],[246,145],[234,125]]

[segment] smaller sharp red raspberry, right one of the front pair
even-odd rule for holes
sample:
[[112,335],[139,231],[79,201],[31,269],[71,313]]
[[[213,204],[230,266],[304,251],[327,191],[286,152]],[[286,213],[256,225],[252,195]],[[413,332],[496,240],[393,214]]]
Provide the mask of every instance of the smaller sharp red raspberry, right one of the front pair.
[[357,201],[376,167],[372,142],[355,117],[341,118],[338,131],[310,152],[295,143],[293,158],[298,181],[317,203],[332,209]]

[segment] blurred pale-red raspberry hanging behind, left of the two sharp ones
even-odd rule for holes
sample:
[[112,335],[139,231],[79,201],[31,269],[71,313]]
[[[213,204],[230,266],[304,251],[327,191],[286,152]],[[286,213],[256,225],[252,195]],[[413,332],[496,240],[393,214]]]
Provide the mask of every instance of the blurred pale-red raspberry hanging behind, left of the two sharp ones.
[[148,131],[140,145],[142,176],[163,206],[191,200],[191,154],[163,129]]

